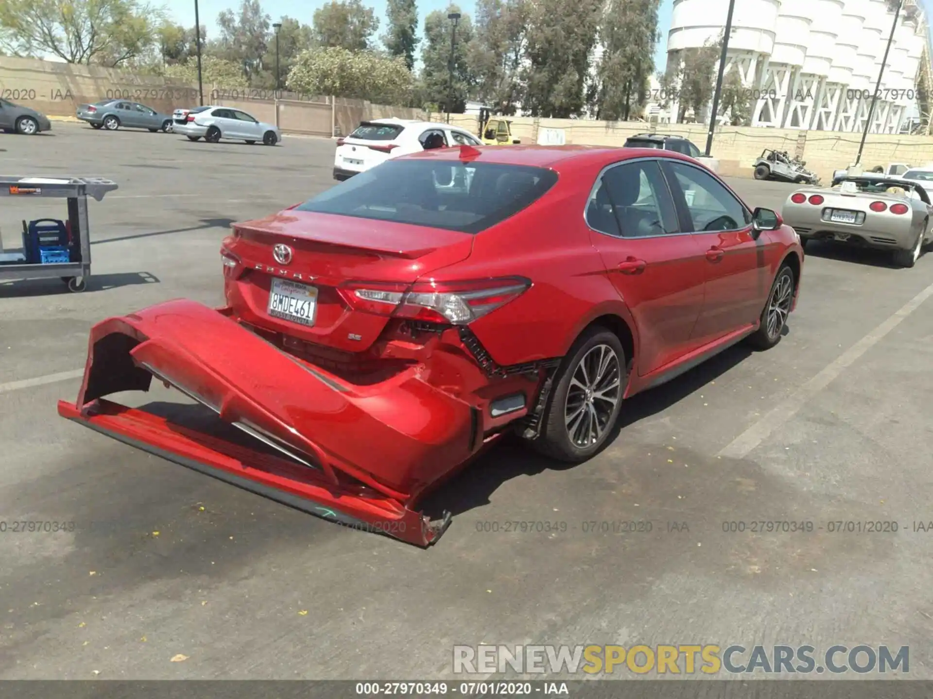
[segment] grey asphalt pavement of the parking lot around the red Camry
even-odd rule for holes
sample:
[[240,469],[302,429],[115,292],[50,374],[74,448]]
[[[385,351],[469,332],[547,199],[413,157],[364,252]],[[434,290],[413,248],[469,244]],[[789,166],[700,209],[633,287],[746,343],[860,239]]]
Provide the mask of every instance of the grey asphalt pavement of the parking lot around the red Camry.
[[[453,678],[457,643],[908,645],[910,676],[933,678],[933,531],[913,524],[933,520],[933,254],[899,269],[812,246],[776,348],[635,397],[585,464],[497,445],[428,503],[453,524],[426,551],[57,416],[92,323],[219,304],[227,226],[330,186],[333,150],[73,124],[0,136],[4,174],[119,184],[90,203],[87,292],[0,283],[0,678]],[[753,206],[788,192],[731,184]],[[21,219],[61,213],[8,201],[7,247]],[[754,521],[815,526],[724,531]]]

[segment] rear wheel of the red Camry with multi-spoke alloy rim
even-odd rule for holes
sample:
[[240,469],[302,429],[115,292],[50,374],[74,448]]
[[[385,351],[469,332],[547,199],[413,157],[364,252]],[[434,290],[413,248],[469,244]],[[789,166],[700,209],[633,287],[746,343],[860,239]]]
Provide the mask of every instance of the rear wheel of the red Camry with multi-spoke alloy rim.
[[579,336],[554,377],[554,390],[532,443],[551,459],[590,459],[613,434],[628,379],[619,337],[601,326]]

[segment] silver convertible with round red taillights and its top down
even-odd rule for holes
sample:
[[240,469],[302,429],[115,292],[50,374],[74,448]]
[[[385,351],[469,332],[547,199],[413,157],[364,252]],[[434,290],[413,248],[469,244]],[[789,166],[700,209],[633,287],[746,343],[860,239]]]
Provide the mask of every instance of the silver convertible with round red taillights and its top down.
[[913,267],[933,242],[933,206],[923,185],[883,175],[841,177],[831,187],[803,187],[782,212],[806,246],[835,240],[889,250],[899,267]]

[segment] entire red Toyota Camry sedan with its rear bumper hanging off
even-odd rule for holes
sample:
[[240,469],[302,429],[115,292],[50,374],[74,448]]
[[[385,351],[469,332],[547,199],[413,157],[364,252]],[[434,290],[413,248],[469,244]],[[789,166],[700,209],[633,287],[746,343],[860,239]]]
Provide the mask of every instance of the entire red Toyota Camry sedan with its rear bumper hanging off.
[[[577,146],[392,159],[233,226],[221,255],[226,306],[98,323],[60,413],[423,546],[450,517],[419,500],[504,432],[583,461],[629,396],[773,347],[803,263],[777,213],[695,160]],[[152,377],[218,429],[104,398]]]

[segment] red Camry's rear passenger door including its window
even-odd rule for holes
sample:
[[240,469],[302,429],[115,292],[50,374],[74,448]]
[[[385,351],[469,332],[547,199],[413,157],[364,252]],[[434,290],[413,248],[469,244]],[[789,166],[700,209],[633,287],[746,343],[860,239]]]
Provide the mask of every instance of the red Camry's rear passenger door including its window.
[[703,254],[680,230],[657,158],[626,160],[602,172],[587,206],[592,243],[632,312],[640,376],[690,349],[703,308]]

